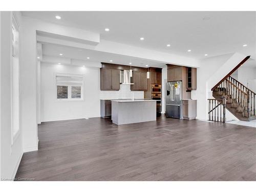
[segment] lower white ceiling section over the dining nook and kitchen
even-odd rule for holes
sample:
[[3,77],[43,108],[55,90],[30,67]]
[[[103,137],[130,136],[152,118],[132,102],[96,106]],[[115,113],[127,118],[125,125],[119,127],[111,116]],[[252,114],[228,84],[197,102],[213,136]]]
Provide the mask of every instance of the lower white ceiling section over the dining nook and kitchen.
[[[135,57],[128,57],[128,56],[118,55],[113,53],[106,53],[106,52],[94,51],[89,49],[80,49],[80,48],[52,45],[52,44],[43,44],[42,53],[43,53],[42,61],[44,61],[44,56],[52,56],[52,57],[56,57],[56,59],[54,59],[56,63],[57,62],[62,63],[61,60],[65,60],[62,58],[67,58],[67,60],[77,59],[77,60],[84,60],[84,61],[98,62],[98,63],[99,62],[118,63],[122,65],[130,65],[129,63],[132,62],[133,66],[144,67],[144,68],[148,64],[150,67],[162,67],[165,65],[165,63],[156,62],[152,60],[142,60]],[[62,56],[59,55],[60,53],[62,54]],[[90,57],[90,59],[88,59],[87,57]],[[110,60],[113,60],[113,61],[110,61]],[[80,65],[83,65],[83,64],[80,64]]]

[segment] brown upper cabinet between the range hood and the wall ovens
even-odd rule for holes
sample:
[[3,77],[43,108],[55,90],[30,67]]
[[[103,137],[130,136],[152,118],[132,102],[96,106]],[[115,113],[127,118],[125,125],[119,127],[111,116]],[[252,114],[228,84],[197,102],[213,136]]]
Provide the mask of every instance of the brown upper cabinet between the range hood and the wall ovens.
[[131,85],[132,91],[144,91],[147,90],[147,78],[145,72],[134,71]]

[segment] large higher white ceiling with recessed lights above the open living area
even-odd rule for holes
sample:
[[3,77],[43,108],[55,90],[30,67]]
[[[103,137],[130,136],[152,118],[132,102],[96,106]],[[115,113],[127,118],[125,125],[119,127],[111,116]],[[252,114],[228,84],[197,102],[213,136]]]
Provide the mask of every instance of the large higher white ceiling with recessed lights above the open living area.
[[[22,12],[47,22],[100,33],[100,38],[204,58],[231,52],[255,57],[255,12]],[[60,15],[61,19],[55,19]],[[208,17],[210,19],[204,20]],[[105,32],[104,28],[109,28]],[[139,40],[144,37],[144,40]],[[166,47],[170,44],[170,47]],[[247,47],[243,47],[247,44]],[[191,49],[191,52],[187,52]]]

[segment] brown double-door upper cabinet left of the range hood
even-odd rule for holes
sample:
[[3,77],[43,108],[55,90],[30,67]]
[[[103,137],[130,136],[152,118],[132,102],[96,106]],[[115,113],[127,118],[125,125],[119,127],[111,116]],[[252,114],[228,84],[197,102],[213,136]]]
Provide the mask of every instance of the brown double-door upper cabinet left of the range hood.
[[118,91],[120,89],[120,70],[100,69],[100,90]]

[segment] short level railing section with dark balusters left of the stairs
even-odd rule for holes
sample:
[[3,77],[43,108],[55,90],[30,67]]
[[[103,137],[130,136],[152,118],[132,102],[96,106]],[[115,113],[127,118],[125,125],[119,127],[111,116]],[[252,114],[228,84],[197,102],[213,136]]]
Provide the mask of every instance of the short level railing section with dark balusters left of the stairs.
[[208,99],[209,121],[226,122],[226,98]]

